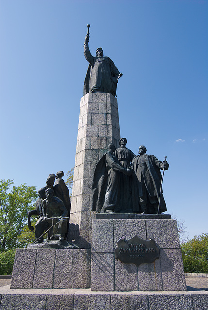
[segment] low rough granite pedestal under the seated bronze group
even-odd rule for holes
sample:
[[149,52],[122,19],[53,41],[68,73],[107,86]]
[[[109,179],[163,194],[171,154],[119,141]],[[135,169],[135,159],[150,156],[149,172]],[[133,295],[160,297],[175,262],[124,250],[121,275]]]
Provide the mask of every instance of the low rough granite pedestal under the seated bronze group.
[[11,288],[89,288],[90,268],[90,250],[18,249]]

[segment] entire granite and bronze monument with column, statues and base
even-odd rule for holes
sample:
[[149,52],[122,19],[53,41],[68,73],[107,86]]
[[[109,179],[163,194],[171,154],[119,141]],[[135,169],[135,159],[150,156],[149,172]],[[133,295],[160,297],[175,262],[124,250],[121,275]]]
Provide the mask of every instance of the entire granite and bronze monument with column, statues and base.
[[89,27],[67,240],[63,171],[48,177],[32,211],[40,216],[37,246],[51,242],[42,242],[51,224],[55,242],[74,247],[17,249],[13,290],[1,290],[0,310],[17,303],[19,309],[206,310],[207,292],[186,291],[177,223],[163,213],[169,164],[144,146],[135,156],[120,138],[115,96],[121,74],[101,48],[91,55]]

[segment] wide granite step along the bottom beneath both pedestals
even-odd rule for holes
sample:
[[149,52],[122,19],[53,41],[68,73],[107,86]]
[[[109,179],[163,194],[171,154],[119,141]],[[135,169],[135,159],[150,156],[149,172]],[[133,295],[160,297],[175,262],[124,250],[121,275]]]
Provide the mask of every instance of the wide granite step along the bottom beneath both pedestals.
[[207,291],[91,292],[0,288],[0,310],[207,310]]

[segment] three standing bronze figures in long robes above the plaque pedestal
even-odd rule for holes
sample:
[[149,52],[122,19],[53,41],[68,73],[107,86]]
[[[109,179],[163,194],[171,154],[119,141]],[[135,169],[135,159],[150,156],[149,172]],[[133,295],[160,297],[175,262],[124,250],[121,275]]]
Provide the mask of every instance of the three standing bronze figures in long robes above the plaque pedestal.
[[167,170],[169,164],[146,154],[144,145],[139,147],[139,155],[135,156],[126,148],[126,143],[126,138],[121,138],[118,149],[109,144],[108,151],[97,163],[91,210],[148,214],[166,211],[160,170]]

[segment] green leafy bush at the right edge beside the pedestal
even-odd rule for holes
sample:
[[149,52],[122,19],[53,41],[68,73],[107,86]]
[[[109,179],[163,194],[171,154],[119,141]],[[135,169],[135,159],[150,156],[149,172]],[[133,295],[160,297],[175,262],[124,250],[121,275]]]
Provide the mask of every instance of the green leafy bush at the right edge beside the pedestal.
[[208,273],[208,233],[183,243],[181,251],[185,272]]

